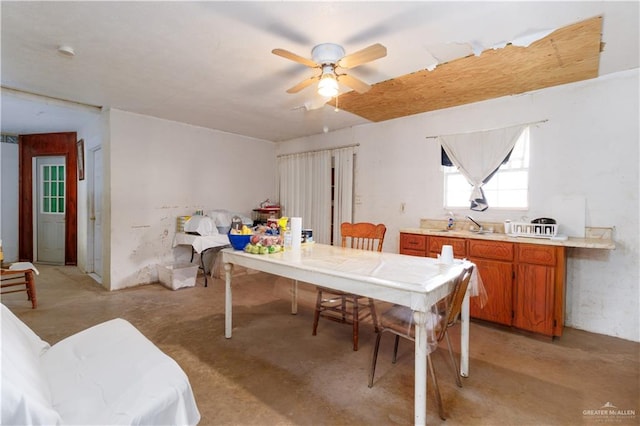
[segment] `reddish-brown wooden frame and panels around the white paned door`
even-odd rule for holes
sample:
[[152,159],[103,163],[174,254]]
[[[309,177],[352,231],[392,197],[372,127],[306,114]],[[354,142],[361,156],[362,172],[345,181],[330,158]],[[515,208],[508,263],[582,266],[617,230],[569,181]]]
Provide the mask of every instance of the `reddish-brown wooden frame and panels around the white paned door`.
[[64,263],[78,263],[78,155],[76,132],[19,136],[18,258],[33,262],[33,158],[62,156],[66,163]]

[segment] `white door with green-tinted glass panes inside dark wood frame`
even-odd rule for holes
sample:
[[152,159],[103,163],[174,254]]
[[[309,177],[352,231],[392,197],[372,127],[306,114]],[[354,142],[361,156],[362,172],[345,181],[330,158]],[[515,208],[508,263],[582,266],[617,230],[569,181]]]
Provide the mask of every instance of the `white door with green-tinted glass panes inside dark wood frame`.
[[65,157],[36,157],[36,261],[64,265]]

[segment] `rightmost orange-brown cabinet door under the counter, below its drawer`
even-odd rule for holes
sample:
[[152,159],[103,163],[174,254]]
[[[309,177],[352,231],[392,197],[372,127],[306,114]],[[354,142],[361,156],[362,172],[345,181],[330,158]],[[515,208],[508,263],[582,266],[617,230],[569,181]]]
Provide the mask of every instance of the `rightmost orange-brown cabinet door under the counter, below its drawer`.
[[516,267],[513,325],[523,330],[554,334],[555,268],[519,264]]

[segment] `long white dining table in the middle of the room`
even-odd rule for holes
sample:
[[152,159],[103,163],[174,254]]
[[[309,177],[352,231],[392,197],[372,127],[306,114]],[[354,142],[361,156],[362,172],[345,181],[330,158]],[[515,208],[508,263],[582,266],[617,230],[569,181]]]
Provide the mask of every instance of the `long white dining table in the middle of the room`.
[[[456,260],[440,264],[438,259],[396,253],[373,252],[310,244],[299,250],[257,255],[227,248],[222,250],[225,269],[225,337],[231,338],[233,265],[292,279],[291,312],[297,312],[297,282],[303,281],[336,290],[372,297],[410,307],[415,330],[416,425],[426,423],[427,330],[426,314],[451,290],[455,278],[469,265]],[[461,314],[460,374],[469,373],[469,291]]]

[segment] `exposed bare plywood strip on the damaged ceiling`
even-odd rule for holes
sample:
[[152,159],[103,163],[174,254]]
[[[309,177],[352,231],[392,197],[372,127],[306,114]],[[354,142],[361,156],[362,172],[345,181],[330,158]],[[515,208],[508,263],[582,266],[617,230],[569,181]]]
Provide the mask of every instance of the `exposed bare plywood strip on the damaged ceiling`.
[[[560,28],[528,47],[507,45],[340,95],[342,110],[379,122],[598,76],[602,17]],[[335,106],[335,99],[329,104]]]

